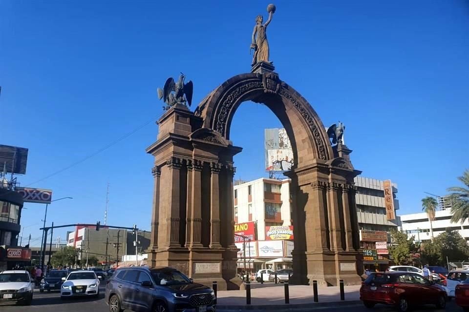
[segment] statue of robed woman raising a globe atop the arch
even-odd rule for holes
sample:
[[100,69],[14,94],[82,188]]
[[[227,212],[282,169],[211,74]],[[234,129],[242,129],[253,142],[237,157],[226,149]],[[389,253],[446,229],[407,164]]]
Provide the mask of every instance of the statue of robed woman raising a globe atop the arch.
[[[271,63],[269,61],[269,42],[267,42],[267,25],[269,25],[272,20],[272,16],[275,12],[275,6],[269,5],[267,7],[269,12],[269,19],[262,25],[262,15],[256,16],[256,26],[254,26],[253,31],[253,41],[251,43],[251,49],[254,49],[254,57],[252,65],[257,64],[258,62]],[[257,35],[257,36],[256,36]]]

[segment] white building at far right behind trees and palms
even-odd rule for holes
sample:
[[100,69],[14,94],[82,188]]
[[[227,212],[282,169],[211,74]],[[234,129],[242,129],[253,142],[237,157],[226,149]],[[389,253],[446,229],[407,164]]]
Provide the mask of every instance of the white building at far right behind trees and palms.
[[461,236],[469,240],[469,221],[452,223],[452,216],[450,209],[438,210],[430,226],[426,213],[401,215],[402,230],[409,237],[413,236],[416,241],[420,242],[429,241],[432,236],[436,237],[446,229],[458,231]]

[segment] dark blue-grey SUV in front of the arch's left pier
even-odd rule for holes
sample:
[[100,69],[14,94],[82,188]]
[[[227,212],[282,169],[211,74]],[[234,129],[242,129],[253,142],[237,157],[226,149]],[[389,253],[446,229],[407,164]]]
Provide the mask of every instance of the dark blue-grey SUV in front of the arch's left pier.
[[213,290],[168,267],[118,269],[106,286],[110,312],[215,312]]

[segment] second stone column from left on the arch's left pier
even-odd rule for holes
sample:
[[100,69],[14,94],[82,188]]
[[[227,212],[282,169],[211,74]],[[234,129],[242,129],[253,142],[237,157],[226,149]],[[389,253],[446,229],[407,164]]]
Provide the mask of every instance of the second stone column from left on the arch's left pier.
[[171,157],[168,159],[166,164],[169,169],[169,175],[165,184],[168,185],[170,190],[170,194],[168,196],[169,209],[166,215],[166,247],[181,247],[181,244],[179,243],[179,223],[181,220],[179,215],[179,178],[182,159]]

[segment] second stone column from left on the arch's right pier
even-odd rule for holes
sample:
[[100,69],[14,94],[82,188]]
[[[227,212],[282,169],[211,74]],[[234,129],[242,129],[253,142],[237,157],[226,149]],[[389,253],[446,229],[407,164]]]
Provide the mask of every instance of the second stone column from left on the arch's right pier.
[[329,207],[329,231],[331,233],[331,250],[334,252],[342,251],[341,220],[339,215],[339,184],[329,182],[328,188],[328,207]]

